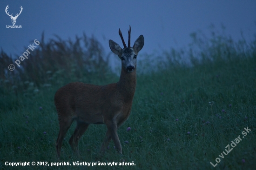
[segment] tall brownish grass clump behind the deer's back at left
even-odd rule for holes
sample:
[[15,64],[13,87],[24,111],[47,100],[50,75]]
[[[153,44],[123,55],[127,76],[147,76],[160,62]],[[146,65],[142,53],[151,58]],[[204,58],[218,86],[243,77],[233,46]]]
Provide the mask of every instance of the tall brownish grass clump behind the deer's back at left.
[[[108,56],[104,55],[101,44],[93,37],[88,38],[85,33],[83,37],[76,36],[74,42],[71,39],[63,40],[57,35],[45,42],[42,33],[40,45],[29,54],[28,59],[21,61],[20,67],[12,59],[19,59],[19,55],[12,58],[1,50],[0,86],[8,90],[27,90],[32,84],[39,88],[56,82],[67,83],[70,79],[90,79],[95,74],[105,78],[108,74]],[[10,64],[16,66],[14,71],[8,70]]]

